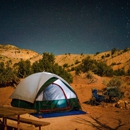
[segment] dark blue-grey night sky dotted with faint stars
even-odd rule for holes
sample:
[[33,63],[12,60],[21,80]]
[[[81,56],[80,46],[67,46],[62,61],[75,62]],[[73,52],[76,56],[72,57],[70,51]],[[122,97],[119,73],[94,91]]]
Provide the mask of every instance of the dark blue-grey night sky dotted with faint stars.
[[130,0],[0,0],[0,44],[40,54],[130,47]]

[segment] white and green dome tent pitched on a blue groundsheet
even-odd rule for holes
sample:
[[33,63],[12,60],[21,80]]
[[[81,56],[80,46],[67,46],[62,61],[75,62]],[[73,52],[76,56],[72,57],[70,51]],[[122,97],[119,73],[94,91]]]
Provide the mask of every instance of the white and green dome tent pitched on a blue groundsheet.
[[48,72],[26,77],[10,98],[12,106],[36,109],[42,113],[81,109],[79,99],[68,82]]

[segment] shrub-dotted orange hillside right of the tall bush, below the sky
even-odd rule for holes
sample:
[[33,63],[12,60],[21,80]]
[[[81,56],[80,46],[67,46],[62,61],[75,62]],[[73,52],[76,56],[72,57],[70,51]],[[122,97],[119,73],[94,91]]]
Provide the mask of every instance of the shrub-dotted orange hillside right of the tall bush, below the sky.
[[123,69],[127,71],[130,69],[130,48],[127,51],[117,50],[114,54],[111,51],[100,52],[98,54],[64,54],[56,56],[56,62],[59,65],[68,64],[74,66],[77,62],[81,62],[84,58],[90,56],[97,61],[105,62],[107,65],[112,66],[114,70]]

